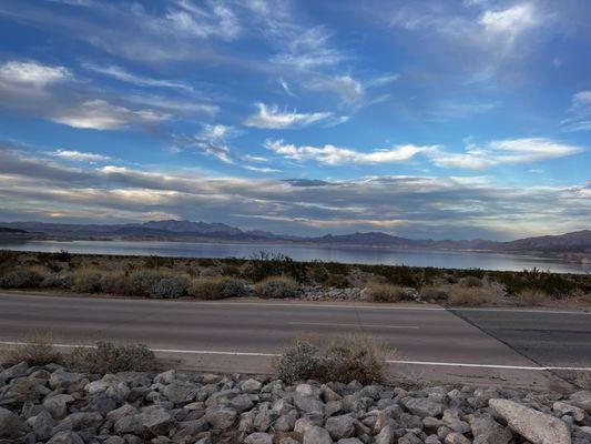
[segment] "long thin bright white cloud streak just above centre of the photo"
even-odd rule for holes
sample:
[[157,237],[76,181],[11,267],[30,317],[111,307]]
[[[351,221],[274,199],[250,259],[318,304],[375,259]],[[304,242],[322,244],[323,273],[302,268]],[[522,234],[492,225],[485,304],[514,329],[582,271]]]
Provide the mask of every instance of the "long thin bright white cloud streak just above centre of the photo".
[[324,147],[297,147],[285,143],[283,140],[267,140],[265,142],[265,148],[288,159],[298,161],[314,160],[329,165],[344,163],[395,163],[409,160],[419,152],[435,149],[435,147],[417,147],[408,144],[396,147],[394,149],[363,152],[332,144],[326,144]]

